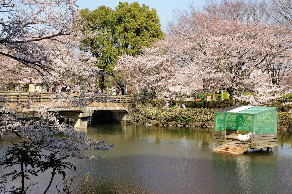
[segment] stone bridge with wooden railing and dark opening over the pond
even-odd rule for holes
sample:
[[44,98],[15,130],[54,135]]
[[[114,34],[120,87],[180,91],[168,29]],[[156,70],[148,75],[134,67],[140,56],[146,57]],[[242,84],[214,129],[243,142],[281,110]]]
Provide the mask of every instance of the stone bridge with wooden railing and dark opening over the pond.
[[[67,95],[78,98],[78,93],[67,93]],[[26,102],[31,100],[33,103],[52,102],[52,93],[50,92],[11,92],[0,91],[0,96],[6,97],[11,107],[16,106],[14,102]],[[2,102],[4,102],[2,100]],[[1,103],[1,101],[0,101]],[[94,101],[87,107],[66,107],[58,109],[49,109],[48,111],[59,111],[60,115],[74,119],[75,128],[86,128],[89,117],[97,123],[122,123],[132,122],[132,97],[131,96],[100,96],[99,101]],[[37,112],[35,109],[17,108],[22,117],[32,117]],[[62,120],[61,120],[62,122]]]

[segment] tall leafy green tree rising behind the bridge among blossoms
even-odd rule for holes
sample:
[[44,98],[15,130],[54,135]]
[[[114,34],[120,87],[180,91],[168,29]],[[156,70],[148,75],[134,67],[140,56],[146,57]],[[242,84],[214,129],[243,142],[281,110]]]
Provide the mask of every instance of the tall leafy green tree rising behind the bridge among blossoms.
[[121,54],[138,55],[143,47],[164,38],[156,9],[138,2],[128,4],[119,2],[112,9],[100,6],[90,11],[81,10],[84,18],[84,32],[87,38],[81,42],[81,48],[98,59],[97,66],[104,75],[99,85],[104,88],[104,76],[114,77],[114,66]]

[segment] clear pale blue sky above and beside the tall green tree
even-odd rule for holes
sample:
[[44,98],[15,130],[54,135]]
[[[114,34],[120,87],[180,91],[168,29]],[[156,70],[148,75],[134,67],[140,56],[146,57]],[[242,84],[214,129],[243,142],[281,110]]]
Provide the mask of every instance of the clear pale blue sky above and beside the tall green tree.
[[162,28],[164,29],[165,24],[167,22],[167,18],[171,20],[173,10],[178,9],[186,9],[187,5],[194,2],[194,4],[200,6],[203,4],[203,0],[107,0],[107,1],[101,1],[101,0],[77,0],[76,4],[79,6],[79,8],[88,8],[90,10],[93,10],[95,8],[98,8],[101,5],[109,6],[111,8],[114,8],[119,4],[119,1],[122,2],[128,2],[133,3],[134,1],[138,1],[140,5],[146,4],[149,6],[149,8],[155,8],[157,10],[157,15],[160,18],[160,23],[162,25]]

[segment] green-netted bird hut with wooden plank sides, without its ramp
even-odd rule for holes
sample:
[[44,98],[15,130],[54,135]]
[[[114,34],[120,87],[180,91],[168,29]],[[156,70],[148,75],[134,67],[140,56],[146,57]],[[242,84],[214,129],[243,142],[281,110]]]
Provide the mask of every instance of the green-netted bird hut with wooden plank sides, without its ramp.
[[278,146],[276,108],[236,105],[214,112],[214,142],[234,141],[235,134],[249,132],[251,148]]

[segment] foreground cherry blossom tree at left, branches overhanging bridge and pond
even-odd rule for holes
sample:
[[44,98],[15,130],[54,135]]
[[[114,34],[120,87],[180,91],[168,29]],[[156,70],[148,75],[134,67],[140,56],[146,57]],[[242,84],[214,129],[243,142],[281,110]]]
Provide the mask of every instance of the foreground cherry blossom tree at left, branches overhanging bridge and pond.
[[[74,86],[79,76],[96,76],[99,69],[91,67],[95,59],[79,51],[79,40],[82,38],[79,21],[74,0],[0,1],[1,87],[37,79],[48,84],[62,81]],[[66,96],[65,93],[53,95],[54,101],[50,105],[31,101],[12,105],[5,103],[6,99],[1,96],[4,103],[0,104],[0,134],[14,133],[23,145],[38,151],[48,150],[56,156],[53,157],[55,162],[69,156],[96,158],[98,156],[86,155],[85,151],[112,147],[104,140],[93,141],[84,133],[60,123],[62,117],[59,112],[50,111],[88,106],[98,96],[86,92],[80,92],[79,98]],[[15,112],[15,108],[35,109],[33,116],[42,119],[38,122],[25,121]],[[24,178],[23,173],[21,176]],[[25,192],[23,180],[18,193]]]

